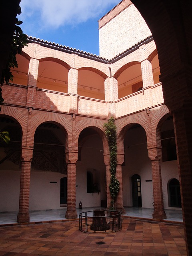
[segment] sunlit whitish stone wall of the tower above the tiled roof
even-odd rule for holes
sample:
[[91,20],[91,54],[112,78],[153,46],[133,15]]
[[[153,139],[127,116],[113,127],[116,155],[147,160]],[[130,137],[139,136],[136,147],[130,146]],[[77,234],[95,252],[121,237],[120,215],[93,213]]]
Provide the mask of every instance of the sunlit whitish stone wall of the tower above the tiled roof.
[[131,4],[99,29],[100,56],[111,59],[150,35],[145,20]]

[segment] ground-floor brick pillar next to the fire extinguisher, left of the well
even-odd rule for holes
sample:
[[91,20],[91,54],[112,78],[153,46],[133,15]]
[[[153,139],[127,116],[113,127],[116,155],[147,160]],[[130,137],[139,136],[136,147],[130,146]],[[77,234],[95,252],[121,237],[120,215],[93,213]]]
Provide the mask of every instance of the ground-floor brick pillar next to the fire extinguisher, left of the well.
[[67,211],[65,218],[77,218],[76,212],[76,161],[77,152],[66,153],[67,162]]

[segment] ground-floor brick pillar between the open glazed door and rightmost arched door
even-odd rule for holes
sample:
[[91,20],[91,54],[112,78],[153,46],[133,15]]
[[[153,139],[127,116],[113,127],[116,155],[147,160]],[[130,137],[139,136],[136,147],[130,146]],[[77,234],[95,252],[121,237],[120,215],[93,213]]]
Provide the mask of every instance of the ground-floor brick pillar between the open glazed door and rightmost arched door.
[[163,205],[163,190],[161,178],[161,148],[148,148],[148,154],[152,164],[152,180],[153,180],[153,202],[154,212],[153,218],[158,220],[166,219]]

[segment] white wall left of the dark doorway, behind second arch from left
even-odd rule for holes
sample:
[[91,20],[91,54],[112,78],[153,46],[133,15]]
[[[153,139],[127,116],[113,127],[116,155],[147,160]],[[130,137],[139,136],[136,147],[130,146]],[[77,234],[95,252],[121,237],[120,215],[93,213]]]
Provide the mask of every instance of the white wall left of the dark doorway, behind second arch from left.
[[66,175],[58,172],[31,172],[29,210],[59,209],[63,177]]

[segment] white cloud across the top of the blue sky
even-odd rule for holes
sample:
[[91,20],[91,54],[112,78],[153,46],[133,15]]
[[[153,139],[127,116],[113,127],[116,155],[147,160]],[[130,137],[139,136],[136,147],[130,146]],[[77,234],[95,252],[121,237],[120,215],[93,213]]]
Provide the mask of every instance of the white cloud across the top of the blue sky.
[[[120,0],[22,0],[22,20],[43,28],[75,25],[102,14]],[[34,24],[32,24],[34,23]]]

